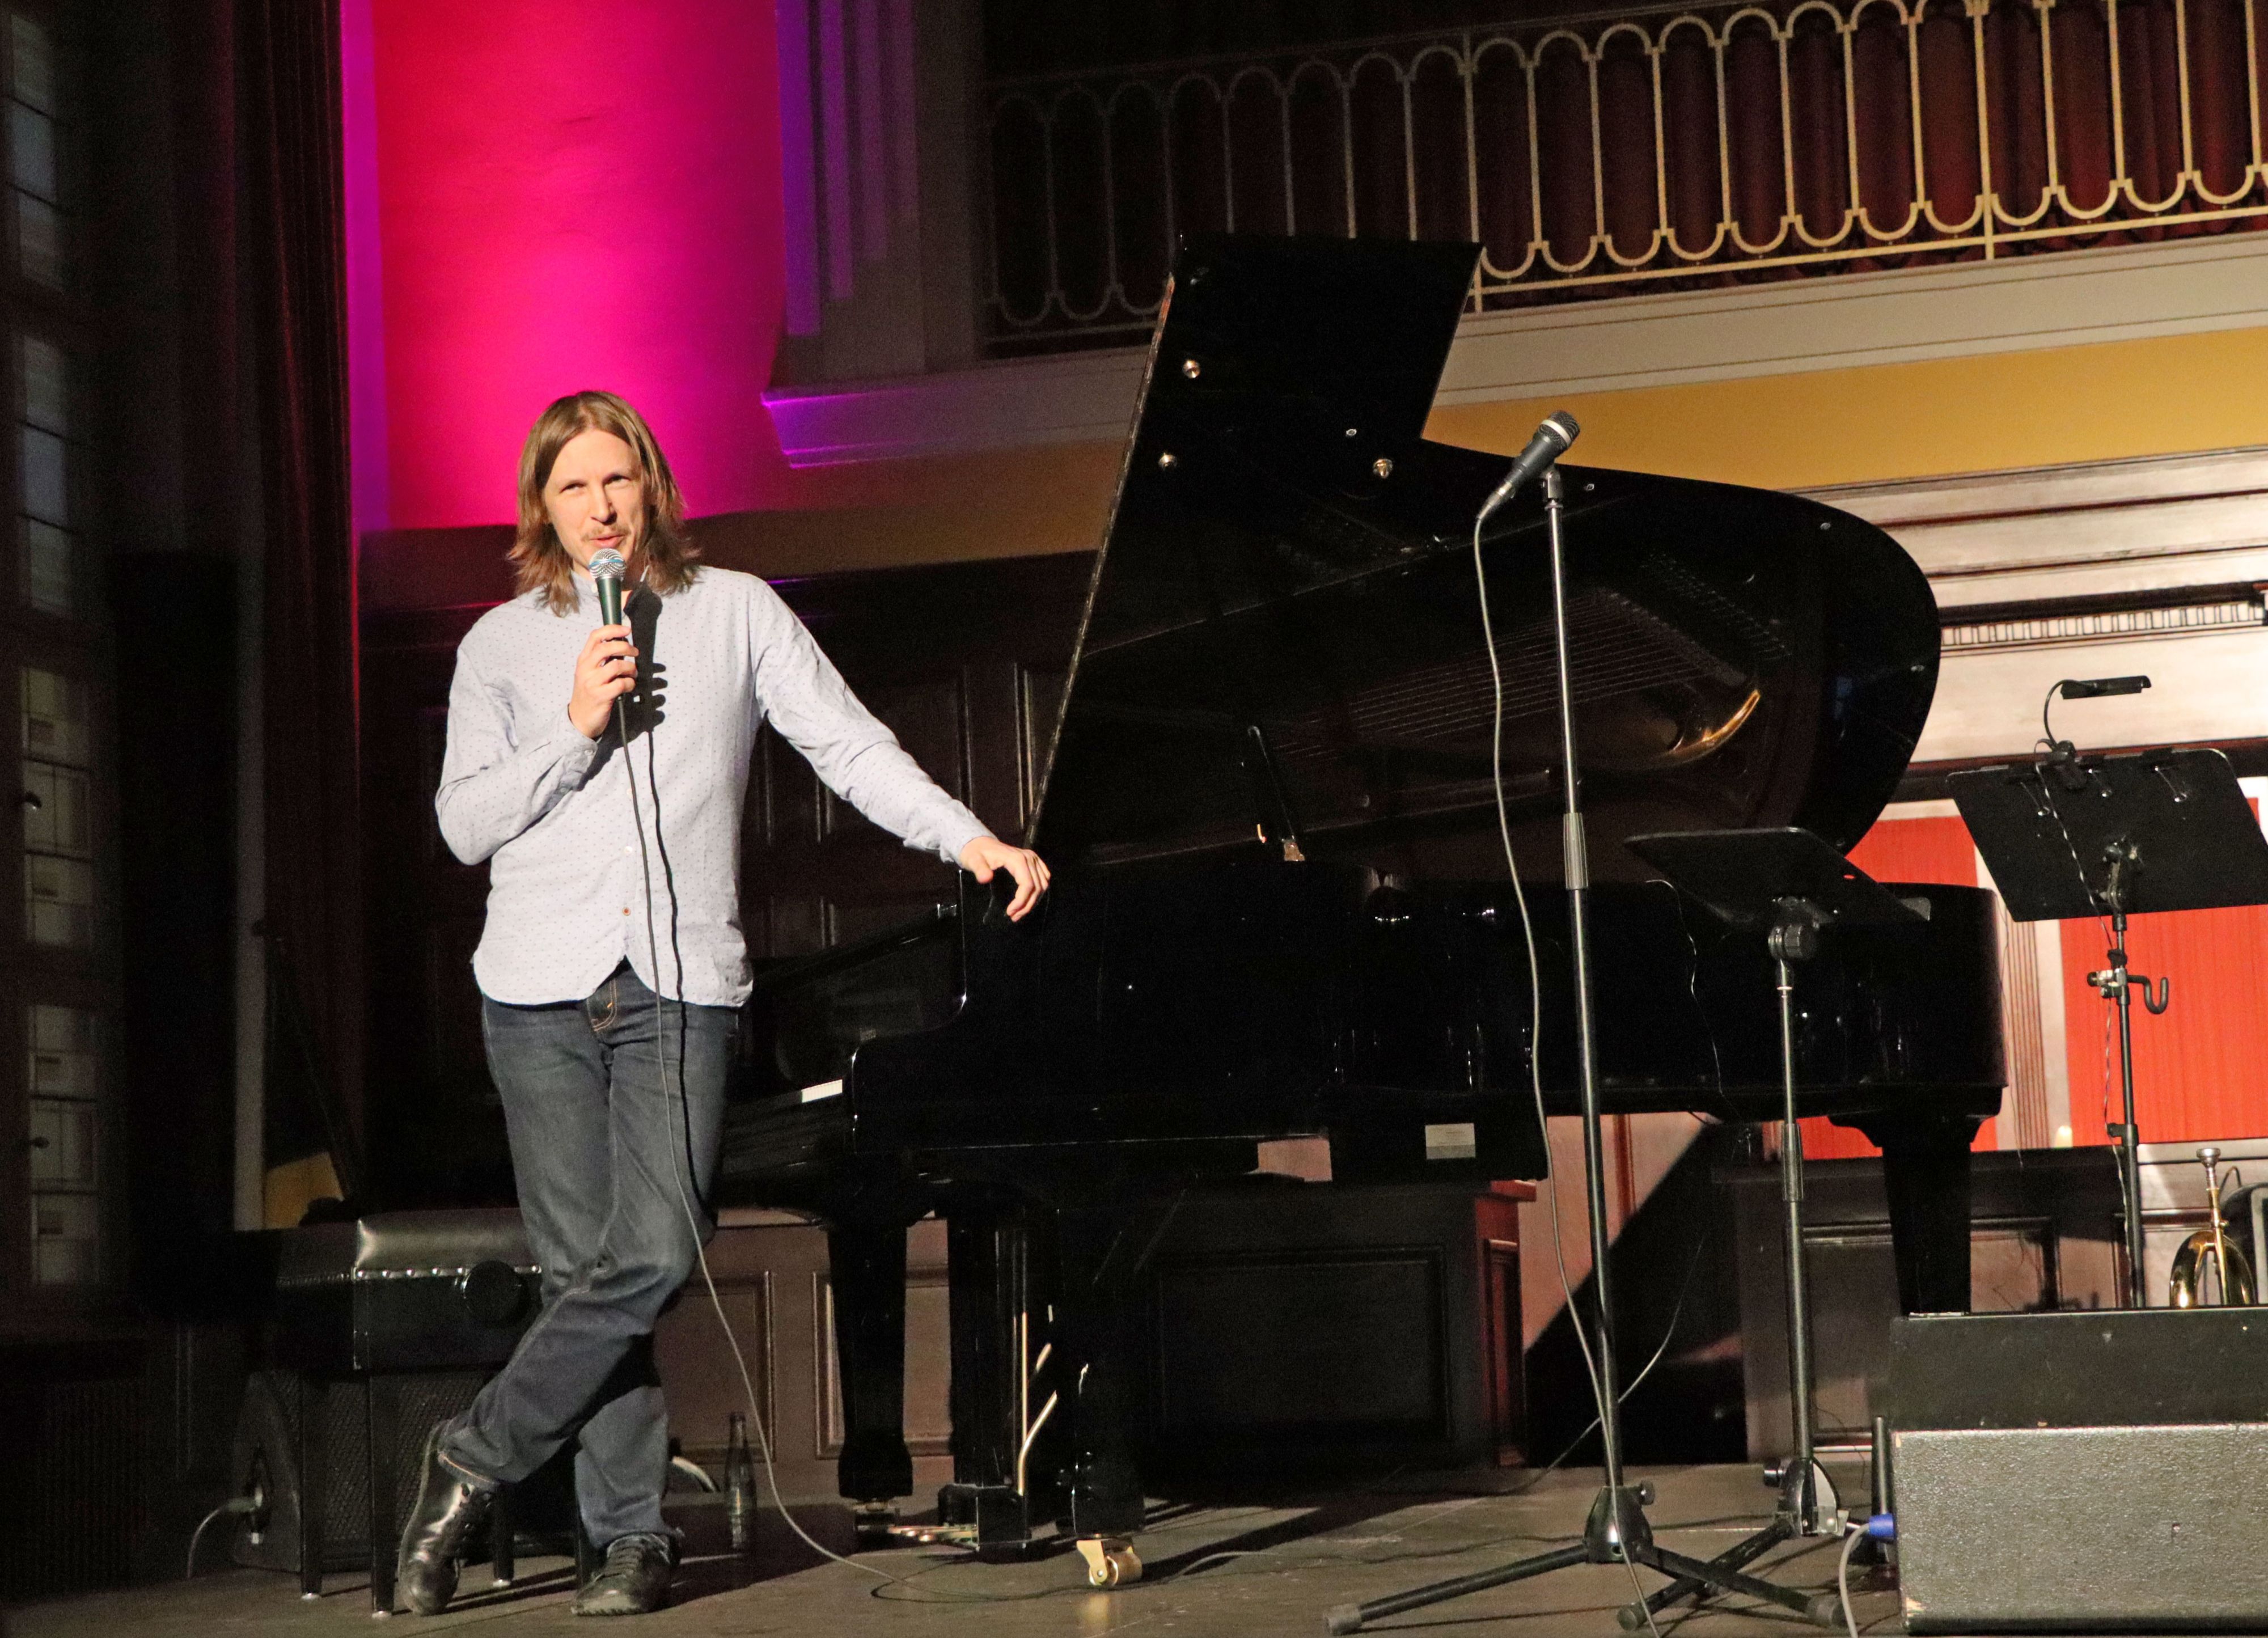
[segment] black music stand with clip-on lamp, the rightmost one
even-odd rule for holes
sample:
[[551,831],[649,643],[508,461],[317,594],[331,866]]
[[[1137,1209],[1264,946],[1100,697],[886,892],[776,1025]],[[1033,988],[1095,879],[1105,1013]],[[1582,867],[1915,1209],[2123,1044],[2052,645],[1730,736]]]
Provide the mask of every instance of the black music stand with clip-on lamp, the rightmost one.
[[2268,903],[2268,837],[2220,751],[2050,755],[1955,774],[1953,801],[2014,921],[2112,919],[2109,966],[2087,982],[2118,1010],[2125,1121],[2112,1125],[2125,1193],[2127,1284],[2143,1307],[2141,1132],[2134,1121],[2134,998],[2173,1003],[2161,976],[2127,971],[2130,914]]

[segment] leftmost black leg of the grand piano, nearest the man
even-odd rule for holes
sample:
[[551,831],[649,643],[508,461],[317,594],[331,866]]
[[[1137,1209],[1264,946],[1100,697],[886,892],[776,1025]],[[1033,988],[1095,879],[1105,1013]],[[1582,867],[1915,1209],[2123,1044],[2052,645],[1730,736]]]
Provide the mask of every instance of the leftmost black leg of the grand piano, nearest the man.
[[905,1223],[830,1227],[828,1282],[844,1395],[839,1488],[850,1502],[891,1502],[914,1488],[905,1447]]

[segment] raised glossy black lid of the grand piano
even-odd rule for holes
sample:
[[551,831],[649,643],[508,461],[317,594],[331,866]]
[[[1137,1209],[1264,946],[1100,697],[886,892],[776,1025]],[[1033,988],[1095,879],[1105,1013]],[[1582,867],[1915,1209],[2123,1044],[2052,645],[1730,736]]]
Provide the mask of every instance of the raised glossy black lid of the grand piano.
[[[1408,876],[1501,876],[1472,517],[1506,461],[1422,438],[1476,254],[1184,247],[1030,830],[1050,860],[1220,851],[1266,828]],[[1937,603],[1912,558],[1769,490],[1567,467],[1567,497],[1599,873],[1644,876],[1617,844],[1647,830],[1857,842],[1937,685]],[[1540,486],[1483,551],[1515,844],[1556,876]]]

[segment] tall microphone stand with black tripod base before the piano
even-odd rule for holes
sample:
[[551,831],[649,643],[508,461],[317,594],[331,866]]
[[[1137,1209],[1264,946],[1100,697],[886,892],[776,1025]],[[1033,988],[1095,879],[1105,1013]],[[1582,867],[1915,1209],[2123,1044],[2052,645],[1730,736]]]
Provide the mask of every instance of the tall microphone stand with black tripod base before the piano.
[[[1560,758],[1567,767],[1567,805],[1560,812],[1560,851],[1567,869],[1567,921],[1574,942],[1574,1016],[1579,1075],[1583,1094],[1583,1214],[1590,1221],[1590,1280],[1592,1323],[1590,1359],[1599,1386],[1599,1452],[1603,1475],[1599,1493],[1590,1502],[1583,1522],[1583,1540],[1572,1547],[1554,1547],[1531,1559],[1517,1559],[1495,1570],[1476,1570],[1449,1581],[1388,1593],[1368,1604],[1338,1604],[1325,1613],[1325,1629],[1331,1633],[1363,1631],[1374,1620],[1402,1615],[1404,1611],[1442,1604],[1467,1593],[1483,1593],[1508,1581],[1531,1581],[1554,1570],[1572,1570],[1579,1563],[1631,1563],[1644,1565],[1672,1579],[1672,1586],[1619,1611],[1626,1629],[1649,1627],[1653,1611],[1681,1595],[1742,1593],[1746,1597],[1796,1611],[1819,1627],[1839,1624],[1839,1604],[1833,1595],[1810,1597],[1794,1588],[1760,1581],[1742,1572],[1742,1563],[1753,1559],[1726,1554],[1715,1561],[1687,1559],[1653,1540],[1647,1522],[1647,1506],[1653,1502],[1651,1484],[1626,1484],[1622,1468],[1622,1379],[1615,1370],[1615,1298],[1608,1273],[1610,1234],[1606,1223],[1606,1141],[1599,1114],[1599,1064],[1597,1039],[1590,1010],[1590,848],[1583,833],[1583,780],[1574,744],[1574,667],[1567,656],[1567,554],[1565,554],[1565,486],[1558,465],[1545,467],[1545,533],[1551,544],[1551,640],[1558,662],[1558,715]],[[1538,1021],[1540,1023],[1540,1021]],[[1576,1325],[1581,1314],[1569,1316]]]

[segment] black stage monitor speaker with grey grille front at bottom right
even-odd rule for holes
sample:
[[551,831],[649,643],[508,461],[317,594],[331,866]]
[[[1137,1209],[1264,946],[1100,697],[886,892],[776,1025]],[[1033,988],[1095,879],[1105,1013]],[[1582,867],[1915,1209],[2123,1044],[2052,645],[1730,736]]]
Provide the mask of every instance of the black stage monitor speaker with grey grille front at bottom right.
[[2268,1309],[1894,1323],[1905,1627],[2268,1629]]

